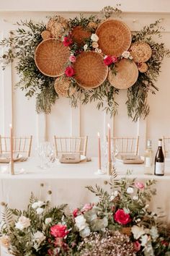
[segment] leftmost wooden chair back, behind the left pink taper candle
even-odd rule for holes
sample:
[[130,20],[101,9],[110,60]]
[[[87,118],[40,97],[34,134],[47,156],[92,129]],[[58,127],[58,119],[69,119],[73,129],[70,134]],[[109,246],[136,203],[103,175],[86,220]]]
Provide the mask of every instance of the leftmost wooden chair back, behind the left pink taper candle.
[[[13,137],[13,152],[21,153],[29,157],[32,146],[32,135],[30,137]],[[0,153],[10,153],[10,137],[0,135]]]

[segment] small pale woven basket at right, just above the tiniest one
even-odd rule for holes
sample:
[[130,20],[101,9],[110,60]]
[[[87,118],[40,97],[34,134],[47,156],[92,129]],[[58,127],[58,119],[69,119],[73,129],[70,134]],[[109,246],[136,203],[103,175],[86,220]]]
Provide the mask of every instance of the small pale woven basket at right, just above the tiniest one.
[[152,56],[152,49],[148,43],[137,42],[130,46],[130,54],[133,56],[135,62],[146,62]]

